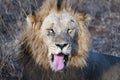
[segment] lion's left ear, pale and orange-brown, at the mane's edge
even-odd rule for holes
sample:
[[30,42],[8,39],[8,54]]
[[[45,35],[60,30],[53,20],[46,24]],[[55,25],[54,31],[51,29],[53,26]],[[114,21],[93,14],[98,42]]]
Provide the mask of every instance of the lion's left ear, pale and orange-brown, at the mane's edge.
[[34,13],[34,14],[28,15],[26,18],[26,21],[28,26],[34,26],[38,22],[38,18]]

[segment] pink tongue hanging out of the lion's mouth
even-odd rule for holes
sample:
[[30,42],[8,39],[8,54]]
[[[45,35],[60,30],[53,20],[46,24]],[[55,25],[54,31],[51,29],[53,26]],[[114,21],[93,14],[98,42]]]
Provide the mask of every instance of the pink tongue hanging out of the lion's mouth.
[[64,56],[54,55],[52,66],[56,71],[62,70],[64,68]]

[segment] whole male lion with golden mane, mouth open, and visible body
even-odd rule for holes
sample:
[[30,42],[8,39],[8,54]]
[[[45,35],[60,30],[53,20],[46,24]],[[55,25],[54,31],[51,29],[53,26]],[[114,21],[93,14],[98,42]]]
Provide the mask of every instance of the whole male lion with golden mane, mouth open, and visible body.
[[28,16],[19,49],[21,80],[120,80],[120,58],[89,52],[88,20],[67,0],[47,0]]

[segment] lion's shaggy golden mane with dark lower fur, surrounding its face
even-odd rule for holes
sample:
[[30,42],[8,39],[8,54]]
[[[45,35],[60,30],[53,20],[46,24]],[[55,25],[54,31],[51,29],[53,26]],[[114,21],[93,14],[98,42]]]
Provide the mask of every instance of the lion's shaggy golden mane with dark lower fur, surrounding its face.
[[[43,41],[44,36],[41,35],[43,33],[40,32],[42,22],[52,9],[56,13],[66,9],[73,15],[80,29],[77,38],[79,45],[77,52],[72,56],[65,73],[54,72],[50,69],[49,59],[47,58],[48,48]],[[23,69],[22,79],[38,80],[40,77],[40,80],[58,80],[58,78],[60,80],[77,80],[78,77],[81,77],[81,72],[87,65],[91,43],[90,33],[85,26],[86,21],[89,20],[88,16],[74,11],[66,0],[47,0],[40,10],[36,12],[36,16],[33,16],[32,19],[29,17],[29,19],[31,22],[28,21],[19,48],[20,66]]]

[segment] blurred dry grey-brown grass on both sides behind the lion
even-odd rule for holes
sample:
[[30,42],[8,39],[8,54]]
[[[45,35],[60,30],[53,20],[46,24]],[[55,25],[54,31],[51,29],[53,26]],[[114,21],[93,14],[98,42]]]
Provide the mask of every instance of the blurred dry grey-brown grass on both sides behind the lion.
[[[0,0],[0,80],[19,80],[17,42],[25,28],[25,18],[43,0]],[[73,8],[88,13],[91,51],[120,56],[120,0],[71,0]]]

